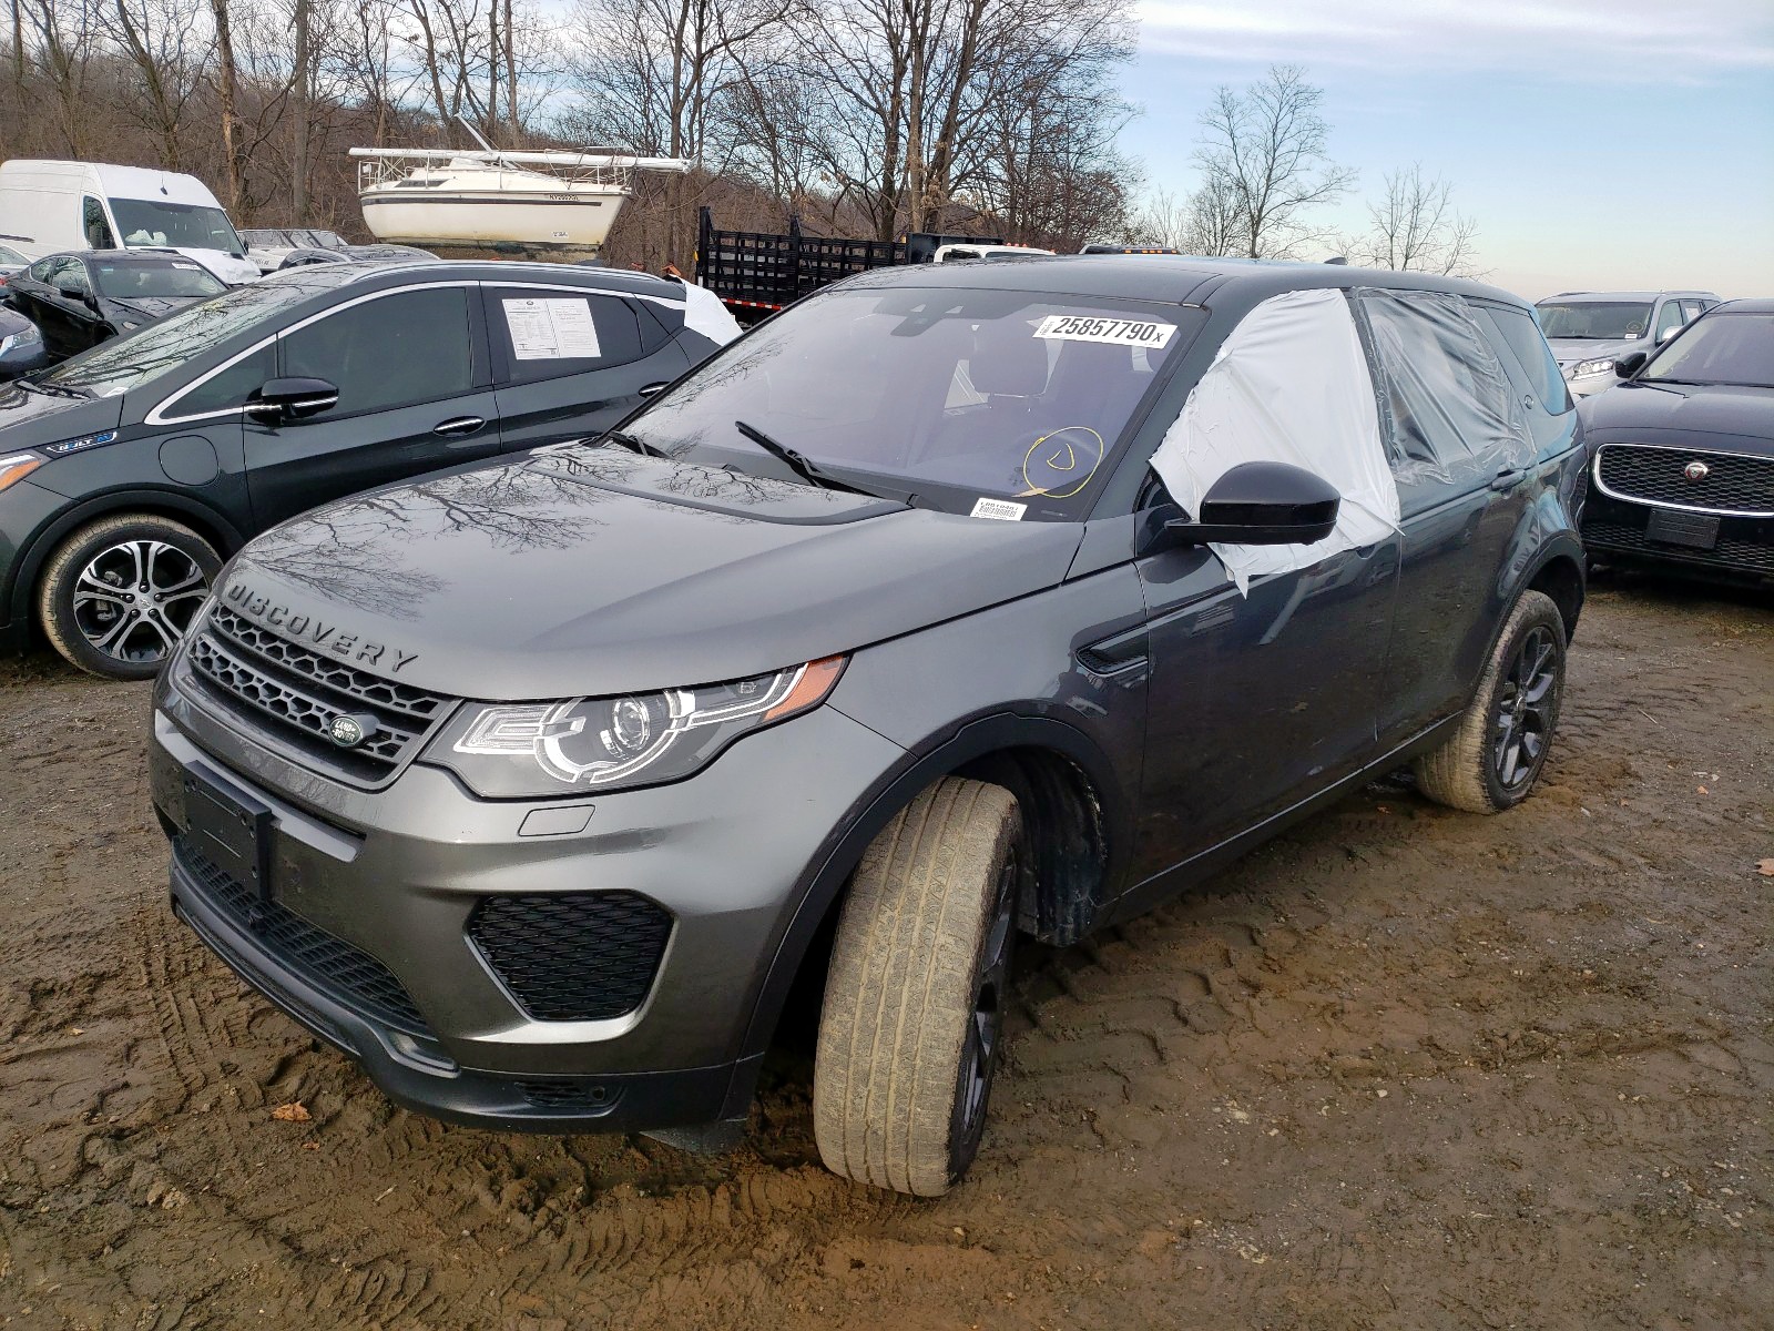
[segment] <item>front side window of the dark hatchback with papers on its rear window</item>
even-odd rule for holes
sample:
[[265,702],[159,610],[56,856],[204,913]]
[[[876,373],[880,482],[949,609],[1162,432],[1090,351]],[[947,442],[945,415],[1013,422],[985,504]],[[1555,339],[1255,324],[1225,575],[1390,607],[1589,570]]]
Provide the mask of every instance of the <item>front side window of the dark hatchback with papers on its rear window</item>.
[[468,287],[399,291],[282,339],[284,374],[339,389],[328,421],[454,398],[474,387]]

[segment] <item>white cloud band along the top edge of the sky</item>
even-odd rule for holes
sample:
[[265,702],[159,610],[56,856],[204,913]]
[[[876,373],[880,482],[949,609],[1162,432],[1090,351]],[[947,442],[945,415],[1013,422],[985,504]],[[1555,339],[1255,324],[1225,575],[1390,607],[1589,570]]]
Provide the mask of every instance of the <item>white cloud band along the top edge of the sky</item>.
[[1217,64],[1710,82],[1774,69],[1769,0],[1139,0],[1141,46]]

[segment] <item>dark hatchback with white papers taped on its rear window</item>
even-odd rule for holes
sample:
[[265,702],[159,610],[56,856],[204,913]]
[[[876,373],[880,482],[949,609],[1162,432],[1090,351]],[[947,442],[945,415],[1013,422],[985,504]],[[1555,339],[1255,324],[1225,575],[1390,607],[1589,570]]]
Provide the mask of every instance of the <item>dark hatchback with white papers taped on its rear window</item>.
[[0,389],[0,642],[145,678],[222,559],[330,499],[594,433],[738,334],[679,282],[341,263]]

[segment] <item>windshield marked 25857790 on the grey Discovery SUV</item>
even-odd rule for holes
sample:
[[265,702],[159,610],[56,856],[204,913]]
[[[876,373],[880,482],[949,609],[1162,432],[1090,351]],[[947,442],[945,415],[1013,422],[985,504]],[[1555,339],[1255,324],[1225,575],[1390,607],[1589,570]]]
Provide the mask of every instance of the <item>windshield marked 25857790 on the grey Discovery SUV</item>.
[[782,474],[736,422],[832,477],[990,516],[1079,520],[1205,314],[1034,291],[832,291],[628,422],[672,456]]

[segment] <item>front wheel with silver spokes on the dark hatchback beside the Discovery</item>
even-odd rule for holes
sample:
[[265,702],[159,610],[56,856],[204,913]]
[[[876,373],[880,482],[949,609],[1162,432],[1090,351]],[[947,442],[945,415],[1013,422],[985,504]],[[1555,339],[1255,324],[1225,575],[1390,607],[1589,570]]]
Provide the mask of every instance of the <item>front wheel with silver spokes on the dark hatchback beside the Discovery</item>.
[[69,536],[37,584],[44,637],[89,674],[147,680],[197,618],[222,559],[170,518],[121,513]]

